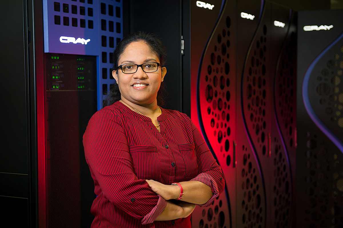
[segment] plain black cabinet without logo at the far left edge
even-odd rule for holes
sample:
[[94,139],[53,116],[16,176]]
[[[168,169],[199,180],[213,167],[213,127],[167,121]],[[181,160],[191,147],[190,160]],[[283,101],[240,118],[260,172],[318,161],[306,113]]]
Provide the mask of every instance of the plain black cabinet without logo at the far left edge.
[[2,68],[0,218],[13,227],[37,224],[33,2],[0,3]]

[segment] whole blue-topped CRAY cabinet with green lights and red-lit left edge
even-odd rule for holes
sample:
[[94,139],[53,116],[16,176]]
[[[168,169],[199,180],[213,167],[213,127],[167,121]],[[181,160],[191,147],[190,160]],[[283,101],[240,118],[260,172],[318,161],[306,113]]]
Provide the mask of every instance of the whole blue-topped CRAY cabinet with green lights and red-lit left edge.
[[41,5],[42,36],[36,35],[44,43],[36,48],[38,223],[89,227],[96,195],[82,136],[115,83],[112,52],[123,37],[122,0],[43,0]]

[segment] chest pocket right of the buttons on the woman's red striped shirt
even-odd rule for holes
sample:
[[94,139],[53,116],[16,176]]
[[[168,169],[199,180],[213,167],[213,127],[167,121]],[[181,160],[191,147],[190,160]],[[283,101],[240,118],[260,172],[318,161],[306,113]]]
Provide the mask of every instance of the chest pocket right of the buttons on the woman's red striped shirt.
[[184,160],[185,166],[184,174],[187,178],[194,178],[198,173],[198,163],[197,163],[197,156],[195,153],[195,145],[194,143],[191,144],[184,144],[178,145],[180,154],[182,159]]

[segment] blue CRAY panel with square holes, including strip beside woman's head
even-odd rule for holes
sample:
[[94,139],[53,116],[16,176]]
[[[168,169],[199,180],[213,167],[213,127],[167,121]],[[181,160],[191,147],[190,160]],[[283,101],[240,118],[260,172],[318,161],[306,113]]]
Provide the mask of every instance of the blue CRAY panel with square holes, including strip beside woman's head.
[[97,56],[98,109],[115,83],[110,68],[122,14],[120,0],[43,0],[44,52]]

